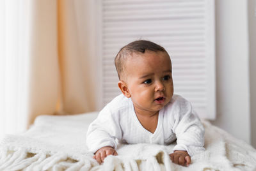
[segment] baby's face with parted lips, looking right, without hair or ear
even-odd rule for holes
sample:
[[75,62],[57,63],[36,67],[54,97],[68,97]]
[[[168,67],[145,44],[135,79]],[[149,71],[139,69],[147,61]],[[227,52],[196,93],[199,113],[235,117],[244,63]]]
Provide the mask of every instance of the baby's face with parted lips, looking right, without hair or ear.
[[157,112],[173,96],[172,63],[165,52],[132,54],[126,61],[125,75],[135,110]]

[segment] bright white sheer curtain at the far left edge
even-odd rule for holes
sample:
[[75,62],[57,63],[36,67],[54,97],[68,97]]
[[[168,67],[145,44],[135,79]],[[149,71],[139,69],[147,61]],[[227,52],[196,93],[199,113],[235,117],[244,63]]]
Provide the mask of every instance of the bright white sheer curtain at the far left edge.
[[29,61],[24,11],[22,1],[0,1],[0,137],[26,128]]

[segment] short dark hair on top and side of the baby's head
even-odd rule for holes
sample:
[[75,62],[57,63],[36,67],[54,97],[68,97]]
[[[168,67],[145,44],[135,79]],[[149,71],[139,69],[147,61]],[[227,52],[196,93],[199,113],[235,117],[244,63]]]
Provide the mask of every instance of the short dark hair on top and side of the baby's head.
[[[125,70],[126,58],[128,56],[132,56],[132,53],[144,54],[146,50],[150,50],[153,52],[158,52],[158,51],[166,52],[166,50],[163,47],[148,40],[136,40],[136,41],[132,41],[128,45],[125,45],[119,50],[118,54],[115,57],[115,66],[116,66],[116,71],[118,73],[119,80],[122,79],[122,75]],[[168,53],[166,52],[166,54]]]

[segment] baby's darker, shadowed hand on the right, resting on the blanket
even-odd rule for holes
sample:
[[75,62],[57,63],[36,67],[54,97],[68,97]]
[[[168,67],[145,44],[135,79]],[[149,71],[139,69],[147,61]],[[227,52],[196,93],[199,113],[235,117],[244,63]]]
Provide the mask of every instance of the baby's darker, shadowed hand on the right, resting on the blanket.
[[169,154],[169,156],[172,162],[178,165],[186,165],[188,167],[191,163],[191,158],[187,151],[174,151],[172,154]]

